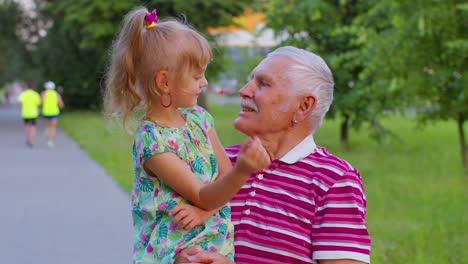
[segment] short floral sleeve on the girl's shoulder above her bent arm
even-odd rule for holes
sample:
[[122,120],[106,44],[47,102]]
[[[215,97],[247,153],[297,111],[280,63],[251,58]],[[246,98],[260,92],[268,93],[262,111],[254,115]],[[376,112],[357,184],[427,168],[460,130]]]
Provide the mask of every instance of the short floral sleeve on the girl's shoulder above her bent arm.
[[142,124],[135,134],[134,155],[139,156],[143,164],[156,154],[171,152],[169,143],[170,140],[165,140],[161,131],[154,129],[150,123]]

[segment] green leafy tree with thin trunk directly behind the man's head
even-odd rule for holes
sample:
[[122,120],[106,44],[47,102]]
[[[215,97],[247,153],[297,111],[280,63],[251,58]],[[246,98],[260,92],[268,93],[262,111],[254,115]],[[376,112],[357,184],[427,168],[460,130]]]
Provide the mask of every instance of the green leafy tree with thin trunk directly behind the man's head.
[[313,51],[329,64],[335,77],[335,100],[327,117],[342,117],[340,139],[345,148],[349,126],[358,129],[367,122],[376,138],[389,132],[378,120],[388,107],[380,98],[386,90],[374,93],[375,86],[362,76],[372,47],[367,37],[375,29],[358,22],[371,7],[357,0],[289,0],[287,5],[277,0],[263,6],[268,27],[289,36],[282,45]]

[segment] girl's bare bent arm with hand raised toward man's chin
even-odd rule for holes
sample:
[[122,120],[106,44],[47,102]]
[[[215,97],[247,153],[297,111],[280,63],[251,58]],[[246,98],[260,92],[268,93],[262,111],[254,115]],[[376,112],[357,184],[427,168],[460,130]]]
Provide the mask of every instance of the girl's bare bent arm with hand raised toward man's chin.
[[[218,150],[217,150],[218,151]],[[225,166],[225,161],[222,166]],[[242,145],[234,168],[226,176],[204,185],[171,152],[165,152],[148,158],[144,167],[149,175],[159,177],[185,199],[205,210],[214,210],[226,204],[239,191],[252,172],[261,170],[270,164],[270,158],[257,137],[249,138]]]

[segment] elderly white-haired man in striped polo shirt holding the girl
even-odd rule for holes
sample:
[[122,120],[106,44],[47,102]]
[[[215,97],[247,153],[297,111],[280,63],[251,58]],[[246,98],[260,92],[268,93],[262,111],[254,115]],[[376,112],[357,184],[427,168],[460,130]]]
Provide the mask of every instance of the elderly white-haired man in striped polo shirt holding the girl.
[[[231,200],[235,262],[369,263],[361,176],[313,138],[333,100],[326,63],[303,49],[279,48],[253,70],[240,96],[235,128],[258,136],[272,163]],[[232,162],[238,151],[226,148]],[[199,248],[181,257],[231,263]]]

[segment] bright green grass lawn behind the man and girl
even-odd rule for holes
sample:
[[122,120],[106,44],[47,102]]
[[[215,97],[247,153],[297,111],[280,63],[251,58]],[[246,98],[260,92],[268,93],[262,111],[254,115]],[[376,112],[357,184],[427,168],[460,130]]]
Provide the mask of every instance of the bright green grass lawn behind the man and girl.
[[[225,145],[242,142],[233,129],[237,105],[212,105]],[[366,188],[367,222],[373,263],[466,263],[468,259],[468,176],[463,175],[454,123],[419,128],[411,118],[383,123],[401,141],[381,144],[366,129],[350,134],[350,150],[339,145],[339,123],[325,121],[317,144],[361,171]],[[106,129],[98,113],[67,113],[62,127],[126,190],[131,188],[132,135]],[[468,128],[467,128],[468,129]]]

